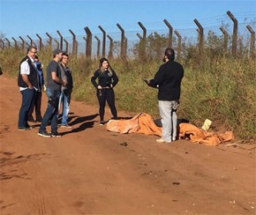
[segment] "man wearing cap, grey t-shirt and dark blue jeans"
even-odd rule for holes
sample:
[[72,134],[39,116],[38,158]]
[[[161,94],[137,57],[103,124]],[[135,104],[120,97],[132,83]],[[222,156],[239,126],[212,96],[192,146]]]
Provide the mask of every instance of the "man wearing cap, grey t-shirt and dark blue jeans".
[[[53,52],[53,60],[49,63],[47,68],[46,93],[48,96],[48,106],[38,131],[38,135],[41,137],[61,137],[57,132],[58,102],[61,93],[61,85],[67,85],[67,83],[61,79],[61,70],[58,64],[62,60],[63,53],[64,51],[55,49]],[[51,133],[46,131],[46,126],[49,121],[51,124]]]

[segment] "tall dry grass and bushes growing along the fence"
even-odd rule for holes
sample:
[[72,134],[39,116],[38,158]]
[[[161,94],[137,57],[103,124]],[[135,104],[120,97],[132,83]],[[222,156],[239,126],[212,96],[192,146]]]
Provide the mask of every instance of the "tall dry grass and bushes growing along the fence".
[[[240,38],[240,41],[245,40]],[[147,37],[147,56],[141,54],[141,44],[138,43],[132,48],[132,58],[109,60],[119,78],[115,88],[118,110],[131,115],[146,112],[159,118],[157,91],[147,87],[142,78],[154,78],[154,73],[162,64],[166,44],[165,35],[152,33]],[[173,47],[177,47],[176,41]],[[210,119],[213,130],[217,131],[218,126],[222,125],[225,130],[233,130],[238,139],[255,143],[256,61],[248,55],[248,47],[248,42],[240,42],[237,57],[234,58],[223,49],[222,37],[210,32],[202,59],[196,45],[190,42],[182,44],[184,51],[177,61],[184,65],[185,73],[178,118],[187,119],[198,126]],[[0,50],[4,75],[17,78],[19,61],[25,55],[19,48]],[[52,58],[51,51],[45,48],[38,56],[46,75],[47,65]],[[70,58],[69,66],[75,85],[72,99],[97,105],[90,78],[98,68],[98,59],[87,59],[83,55]]]

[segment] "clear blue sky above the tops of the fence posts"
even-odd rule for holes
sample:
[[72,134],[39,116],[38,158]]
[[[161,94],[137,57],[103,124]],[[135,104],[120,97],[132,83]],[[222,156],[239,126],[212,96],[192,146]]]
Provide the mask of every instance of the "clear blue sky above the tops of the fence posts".
[[[119,32],[117,23],[125,31],[139,31],[140,21],[147,29],[166,28],[167,19],[174,29],[196,28],[193,19],[203,26],[220,26],[229,20],[231,11],[241,22],[256,20],[256,0],[226,1],[165,1],[165,0],[0,0],[0,33],[11,39],[36,33],[46,38],[45,33],[57,36],[84,34],[88,26],[92,33],[101,33],[101,25],[107,33]],[[256,31],[256,29],[254,29]]]

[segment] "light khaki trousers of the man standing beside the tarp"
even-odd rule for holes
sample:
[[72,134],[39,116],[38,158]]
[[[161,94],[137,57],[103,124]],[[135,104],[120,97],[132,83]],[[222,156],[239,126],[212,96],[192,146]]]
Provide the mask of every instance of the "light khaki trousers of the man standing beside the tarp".
[[162,139],[174,141],[177,137],[177,100],[159,100],[159,111],[162,118]]

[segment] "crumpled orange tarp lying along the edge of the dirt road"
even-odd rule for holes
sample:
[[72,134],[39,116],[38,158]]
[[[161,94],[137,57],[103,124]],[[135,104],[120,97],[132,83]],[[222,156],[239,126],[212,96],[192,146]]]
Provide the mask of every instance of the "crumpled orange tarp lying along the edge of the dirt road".
[[[107,130],[122,134],[139,133],[146,135],[162,136],[162,128],[157,127],[153,117],[146,113],[139,113],[129,120],[110,120],[107,123]],[[179,138],[191,140],[192,143],[203,145],[219,145],[234,139],[232,131],[224,134],[204,131],[191,123],[179,124]]]

